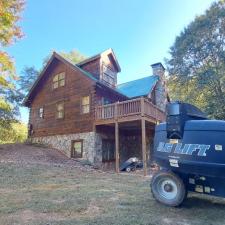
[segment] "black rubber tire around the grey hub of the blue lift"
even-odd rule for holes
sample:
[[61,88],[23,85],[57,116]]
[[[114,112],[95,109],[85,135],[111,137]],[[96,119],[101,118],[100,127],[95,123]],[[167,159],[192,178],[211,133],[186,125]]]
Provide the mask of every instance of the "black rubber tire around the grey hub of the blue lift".
[[[160,194],[160,192],[158,190],[158,183],[162,179],[172,180],[173,183],[176,185],[177,194],[174,198],[167,199],[165,196]],[[163,204],[168,205],[168,206],[173,206],[173,207],[180,206],[183,203],[183,201],[184,201],[184,199],[186,198],[186,195],[187,195],[186,187],[185,187],[182,179],[179,176],[177,176],[176,174],[174,174],[172,172],[169,172],[169,171],[164,171],[164,170],[157,172],[152,177],[151,191],[152,191],[153,197],[158,202],[163,203]]]

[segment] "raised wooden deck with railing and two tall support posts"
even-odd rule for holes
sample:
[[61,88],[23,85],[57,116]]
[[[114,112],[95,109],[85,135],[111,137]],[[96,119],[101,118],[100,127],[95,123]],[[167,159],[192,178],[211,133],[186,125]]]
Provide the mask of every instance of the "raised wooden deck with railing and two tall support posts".
[[146,161],[146,121],[157,124],[165,120],[165,113],[145,98],[97,106],[95,110],[95,125],[113,124],[115,127],[115,166],[119,173],[119,127],[122,122],[141,121],[142,160],[144,175],[147,175]]

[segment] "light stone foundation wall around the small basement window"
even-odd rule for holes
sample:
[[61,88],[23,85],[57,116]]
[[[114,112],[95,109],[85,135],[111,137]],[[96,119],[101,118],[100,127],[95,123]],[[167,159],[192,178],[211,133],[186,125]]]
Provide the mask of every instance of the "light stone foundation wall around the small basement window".
[[95,132],[30,138],[32,143],[41,143],[58,149],[68,157],[71,157],[71,142],[75,140],[83,140],[82,159],[90,163],[102,161],[101,138]]

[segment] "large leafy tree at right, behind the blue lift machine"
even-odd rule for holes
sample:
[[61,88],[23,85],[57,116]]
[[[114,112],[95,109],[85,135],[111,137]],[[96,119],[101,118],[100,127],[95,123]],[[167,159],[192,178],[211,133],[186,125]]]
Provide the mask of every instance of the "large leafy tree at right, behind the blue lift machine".
[[172,99],[225,119],[225,1],[213,3],[181,32],[167,67]]

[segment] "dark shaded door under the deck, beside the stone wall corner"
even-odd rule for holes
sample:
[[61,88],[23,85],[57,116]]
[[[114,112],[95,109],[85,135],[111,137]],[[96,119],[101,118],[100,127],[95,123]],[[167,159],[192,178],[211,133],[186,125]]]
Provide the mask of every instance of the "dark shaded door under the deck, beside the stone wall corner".
[[102,140],[102,162],[115,161],[115,141],[109,139]]

